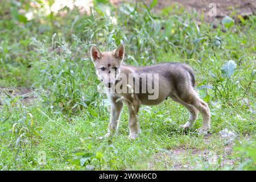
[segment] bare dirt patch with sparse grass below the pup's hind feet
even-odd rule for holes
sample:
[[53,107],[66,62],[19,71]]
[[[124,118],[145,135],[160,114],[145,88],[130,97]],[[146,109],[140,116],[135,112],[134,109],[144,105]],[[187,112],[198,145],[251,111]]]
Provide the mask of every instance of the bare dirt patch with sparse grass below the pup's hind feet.
[[[209,138],[205,138],[205,146],[208,146]],[[209,150],[209,148],[186,148],[179,146],[170,150],[162,150],[155,154],[151,162],[148,164],[148,170],[157,170],[159,165],[164,170],[195,170],[201,167],[213,166],[229,166],[234,164],[237,159],[231,159],[229,156],[233,153],[233,143],[229,143],[221,148],[221,152]],[[219,159],[221,162],[219,164]],[[191,162],[192,161],[192,162]]]

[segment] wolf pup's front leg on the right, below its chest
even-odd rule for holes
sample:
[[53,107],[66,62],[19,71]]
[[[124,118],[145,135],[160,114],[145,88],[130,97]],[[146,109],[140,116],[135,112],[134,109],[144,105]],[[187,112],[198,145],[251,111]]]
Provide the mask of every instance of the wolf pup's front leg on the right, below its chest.
[[130,129],[129,138],[130,139],[135,139],[140,132],[139,121],[138,121],[139,105],[140,105],[140,101],[138,100],[133,100],[132,102],[127,103],[128,110],[129,110],[129,129]]

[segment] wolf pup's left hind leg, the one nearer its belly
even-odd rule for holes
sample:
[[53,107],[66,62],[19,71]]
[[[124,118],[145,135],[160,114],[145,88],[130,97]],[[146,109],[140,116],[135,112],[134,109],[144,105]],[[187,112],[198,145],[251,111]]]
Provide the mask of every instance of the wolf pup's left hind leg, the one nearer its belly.
[[194,106],[192,106],[190,104],[187,104],[184,101],[181,101],[176,96],[170,96],[170,97],[175,102],[178,102],[179,104],[181,104],[184,107],[186,107],[188,109],[188,111],[189,111],[189,119],[188,119],[188,121],[184,125],[180,125],[180,127],[183,127],[183,129],[188,129],[189,127],[192,127],[193,124],[195,123],[196,119],[197,119],[198,110]]

